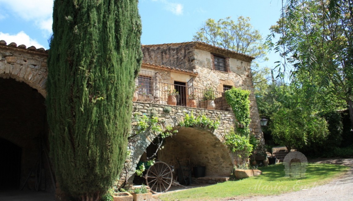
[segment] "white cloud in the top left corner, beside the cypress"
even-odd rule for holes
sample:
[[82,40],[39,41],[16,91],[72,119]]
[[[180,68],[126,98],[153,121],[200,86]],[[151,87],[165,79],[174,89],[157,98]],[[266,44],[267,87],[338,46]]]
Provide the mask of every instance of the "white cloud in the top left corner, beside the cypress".
[[46,35],[52,32],[49,23],[52,22],[53,0],[0,0],[0,3],[16,16],[34,22]]

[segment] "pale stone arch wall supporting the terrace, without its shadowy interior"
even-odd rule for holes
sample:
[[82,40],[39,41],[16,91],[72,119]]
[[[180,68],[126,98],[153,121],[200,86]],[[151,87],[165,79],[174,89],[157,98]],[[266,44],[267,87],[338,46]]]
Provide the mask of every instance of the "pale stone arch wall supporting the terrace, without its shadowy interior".
[[[185,108],[185,107],[172,107],[170,112],[166,112],[164,110],[166,105],[158,105],[158,104],[152,104],[152,103],[138,103],[134,102],[133,103],[133,112],[132,112],[132,133],[131,136],[132,138],[129,139],[129,144],[128,144],[128,157],[126,159],[126,162],[124,164],[124,169],[122,170],[122,173],[120,175],[120,182],[132,182],[132,176],[134,175],[136,171],[136,165],[138,164],[142,154],[145,153],[146,148],[151,144],[151,142],[157,137],[153,133],[140,133],[138,135],[135,135],[136,130],[138,130],[137,126],[137,121],[135,120],[134,116],[135,115],[147,115],[147,116],[158,116],[159,121],[162,122],[160,125],[162,127],[162,130],[166,130],[167,126],[173,127],[174,129],[179,129],[180,128],[180,122],[184,120],[184,116],[186,113],[191,113],[195,116],[197,115],[206,115],[208,118],[211,120],[219,120],[220,121],[220,126],[216,130],[208,130],[205,128],[198,128],[203,130],[203,132],[208,133],[212,138],[217,139],[215,142],[218,143],[218,145],[223,146],[224,149],[221,149],[221,152],[226,152],[226,154],[229,156],[229,159],[231,159],[231,154],[228,153],[228,150],[226,150],[225,145],[222,143],[224,139],[224,135],[227,133],[227,131],[231,128],[234,127],[234,114],[232,112],[228,111],[216,111],[216,110],[207,110],[207,109],[197,109],[197,108]],[[193,128],[195,129],[195,128]],[[177,134],[178,135],[178,134]],[[206,147],[205,147],[206,148]],[[228,165],[230,167],[229,169],[229,174],[231,172],[231,164],[232,162],[229,161]],[[201,165],[201,164],[200,164]],[[227,167],[224,167],[224,169],[227,169]],[[225,172],[222,172],[221,175],[225,175]]]

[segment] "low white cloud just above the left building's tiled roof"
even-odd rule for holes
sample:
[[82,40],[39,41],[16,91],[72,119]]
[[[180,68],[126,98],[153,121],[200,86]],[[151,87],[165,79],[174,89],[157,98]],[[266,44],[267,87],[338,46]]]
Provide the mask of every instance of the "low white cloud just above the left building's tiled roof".
[[39,44],[35,39],[31,39],[24,31],[21,31],[16,35],[0,32],[0,40],[6,41],[7,44],[14,42],[17,45],[26,45],[26,47],[34,46],[36,48],[44,48],[43,45]]

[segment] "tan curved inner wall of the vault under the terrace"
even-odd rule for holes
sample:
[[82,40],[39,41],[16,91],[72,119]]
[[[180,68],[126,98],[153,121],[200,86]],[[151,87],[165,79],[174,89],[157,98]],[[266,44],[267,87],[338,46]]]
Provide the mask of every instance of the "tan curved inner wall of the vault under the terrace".
[[227,147],[209,130],[181,127],[179,132],[166,138],[158,159],[176,168],[204,166],[205,176],[229,176],[232,159]]

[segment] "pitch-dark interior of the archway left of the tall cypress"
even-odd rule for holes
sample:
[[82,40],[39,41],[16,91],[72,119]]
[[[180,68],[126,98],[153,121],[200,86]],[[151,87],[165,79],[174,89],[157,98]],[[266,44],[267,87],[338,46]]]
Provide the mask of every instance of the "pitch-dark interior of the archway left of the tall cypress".
[[[24,185],[25,190],[35,190],[41,172],[37,189],[53,191],[49,165],[43,152],[40,154],[41,145],[47,150],[49,147],[44,102],[44,97],[29,85],[0,78],[0,189]],[[42,165],[38,166],[40,159]],[[36,174],[35,170],[41,171]]]

